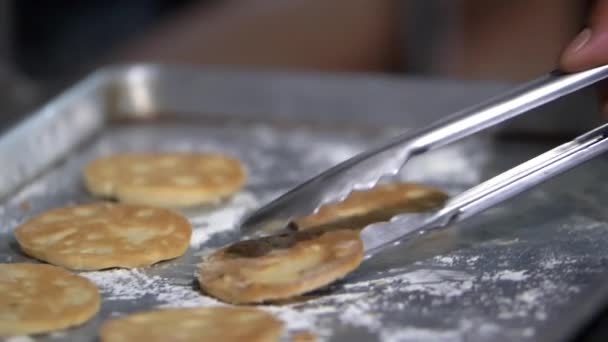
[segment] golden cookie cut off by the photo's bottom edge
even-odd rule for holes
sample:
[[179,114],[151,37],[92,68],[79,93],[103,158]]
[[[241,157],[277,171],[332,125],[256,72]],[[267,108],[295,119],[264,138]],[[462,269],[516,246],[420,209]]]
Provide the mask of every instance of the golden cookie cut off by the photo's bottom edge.
[[278,341],[281,321],[254,308],[159,309],[105,322],[101,342]]

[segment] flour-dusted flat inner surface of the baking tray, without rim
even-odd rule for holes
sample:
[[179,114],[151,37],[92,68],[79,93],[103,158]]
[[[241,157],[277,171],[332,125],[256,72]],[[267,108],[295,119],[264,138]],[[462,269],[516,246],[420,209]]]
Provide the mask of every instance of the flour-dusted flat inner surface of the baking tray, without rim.
[[[201,255],[234,241],[236,224],[246,212],[378,138],[341,129],[265,124],[111,125],[92,144],[74,150],[0,205],[0,258],[35,262],[15,248],[12,229],[41,210],[93,200],[82,187],[81,168],[100,154],[225,152],[243,160],[250,178],[241,193],[214,208],[183,211],[194,229],[189,251],[152,267],[81,273],[99,286],[102,310],[82,327],[49,338],[84,336],[92,341],[107,318],[139,310],[226,305],[198,289],[195,272]],[[521,148],[524,145],[479,142],[463,141],[417,156],[399,178],[458,193],[533,152]],[[602,161],[594,164],[598,162]],[[603,179],[605,169],[594,170],[585,169],[582,175]],[[593,191],[581,191],[567,180],[585,177],[564,177],[489,210],[482,224],[467,223],[466,229],[450,230],[447,236],[431,234],[403,243],[327,288],[289,303],[259,307],[283,320],[289,331],[310,330],[322,340],[538,339],[542,327],[564,311],[562,305],[584,291],[592,275],[606,270],[608,225],[598,204],[604,197],[593,194],[608,188],[595,181],[589,183]],[[19,208],[24,200],[31,203],[31,210]]]

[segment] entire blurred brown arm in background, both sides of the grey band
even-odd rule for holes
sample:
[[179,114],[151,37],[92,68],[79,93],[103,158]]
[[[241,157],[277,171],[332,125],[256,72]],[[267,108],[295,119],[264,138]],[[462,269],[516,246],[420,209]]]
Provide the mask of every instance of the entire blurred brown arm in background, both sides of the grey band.
[[[401,6],[416,1],[459,4],[450,12],[459,23],[447,24],[449,41],[430,41],[415,21],[405,25],[426,20],[412,13],[415,6]],[[444,76],[523,80],[555,68],[584,7],[580,0],[219,0],[188,8],[121,59],[389,71],[416,57]],[[408,27],[416,42],[400,35]],[[417,44],[445,46],[426,56]]]

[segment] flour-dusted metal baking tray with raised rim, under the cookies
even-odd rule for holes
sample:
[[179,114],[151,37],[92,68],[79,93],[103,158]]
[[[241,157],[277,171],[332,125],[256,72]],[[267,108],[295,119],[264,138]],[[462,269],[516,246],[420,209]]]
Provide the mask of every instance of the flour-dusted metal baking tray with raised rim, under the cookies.
[[[95,341],[109,317],[216,305],[193,274],[202,255],[238,238],[240,215],[379,139],[507,87],[155,65],[94,73],[0,136],[0,262],[33,261],[12,237],[24,219],[95,200],[80,171],[101,154],[222,151],[244,161],[249,180],[218,206],[184,211],[194,226],[184,256],[83,273],[100,287],[100,313],[81,327],[30,338]],[[580,114],[572,108],[541,113]],[[457,193],[556,143],[479,135],[416,157],[398,178]],[[543,340],[555,322],[571,331],[588,314],[573,304],[608,270],[607,201],[608,160],[599,158],[466,225],[397,246],[327,288],[261,308],[288,332],[311,330],[328,341]]]

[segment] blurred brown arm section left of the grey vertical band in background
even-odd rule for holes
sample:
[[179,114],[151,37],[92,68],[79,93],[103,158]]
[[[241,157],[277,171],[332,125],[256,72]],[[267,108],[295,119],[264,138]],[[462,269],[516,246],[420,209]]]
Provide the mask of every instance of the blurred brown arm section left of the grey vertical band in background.
[[191,7],[121,61],[386,70],[398,57],[398,0],[248,0]]

